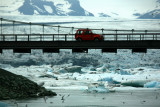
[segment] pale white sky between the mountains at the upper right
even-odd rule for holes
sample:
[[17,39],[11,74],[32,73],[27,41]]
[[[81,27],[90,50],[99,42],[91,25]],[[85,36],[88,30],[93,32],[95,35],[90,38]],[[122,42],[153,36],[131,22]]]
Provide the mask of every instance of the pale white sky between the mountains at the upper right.
[[[131,12],[145,12],[155,8],[156,0],[80,0],[81,6],[92,13],[117,12],[129,15]],[[136,11],[138,10],[138,11]]]

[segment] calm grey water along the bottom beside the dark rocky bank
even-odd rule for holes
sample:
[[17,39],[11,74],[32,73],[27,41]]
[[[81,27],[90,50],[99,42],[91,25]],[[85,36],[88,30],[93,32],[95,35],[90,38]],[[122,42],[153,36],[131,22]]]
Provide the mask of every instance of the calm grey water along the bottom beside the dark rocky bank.
[[[57,96],[5,101],[7,107],[159,107],[160,90],[86,93],[54,90]],[[46,100],[45,100],[46,99]],[[14,104],[17,102],[17,104]],[[5,106],[4,106],[5,107]]]

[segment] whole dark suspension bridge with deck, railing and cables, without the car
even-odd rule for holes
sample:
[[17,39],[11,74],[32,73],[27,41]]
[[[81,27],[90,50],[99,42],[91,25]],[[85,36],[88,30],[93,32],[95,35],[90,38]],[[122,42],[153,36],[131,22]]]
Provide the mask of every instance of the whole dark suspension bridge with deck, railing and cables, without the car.
[[132,49],[146,53],[147,49],[160,49],[160,30],[92,29],[102,34],[104,41],[76,41],[74,32],[86,28],[0,20],[0,53],[3,49],[13,49],[14,53],[31,53],[31,49],[42,49],[44,53],[58,53],[60,49],[85,53],[88,49],[114,53],[117,49]]

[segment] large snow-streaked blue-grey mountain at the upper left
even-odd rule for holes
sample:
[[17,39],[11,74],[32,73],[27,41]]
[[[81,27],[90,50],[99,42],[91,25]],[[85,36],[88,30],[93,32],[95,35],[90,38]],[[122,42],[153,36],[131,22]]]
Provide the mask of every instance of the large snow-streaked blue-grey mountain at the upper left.
[[[7,2],[8,1],[8,2]],[[79,0],[7,0],[0,13],[22,15],[93,16]]]

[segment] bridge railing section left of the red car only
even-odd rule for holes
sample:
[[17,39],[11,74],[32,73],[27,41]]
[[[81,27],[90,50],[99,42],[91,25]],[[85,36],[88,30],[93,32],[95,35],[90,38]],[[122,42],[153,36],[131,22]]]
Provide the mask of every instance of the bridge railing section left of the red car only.
[[76,41],[73,34],[2,34],[0,41]]

